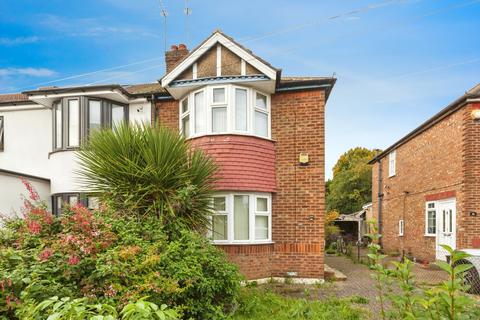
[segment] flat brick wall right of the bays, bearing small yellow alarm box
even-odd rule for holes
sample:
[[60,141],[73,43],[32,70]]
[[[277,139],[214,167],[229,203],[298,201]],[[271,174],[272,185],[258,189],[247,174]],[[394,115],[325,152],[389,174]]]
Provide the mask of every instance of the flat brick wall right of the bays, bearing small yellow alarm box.
[[[273,274],[323,277],[325,95],[322,90],[272,96],[277,193],[272,201]],[[300,153],[309,164],[300,166]]]

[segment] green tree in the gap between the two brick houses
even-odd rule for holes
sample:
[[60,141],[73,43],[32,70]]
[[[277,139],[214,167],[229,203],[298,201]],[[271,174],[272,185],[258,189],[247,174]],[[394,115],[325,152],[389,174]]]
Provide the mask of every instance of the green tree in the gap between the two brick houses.
[[358,211],[372,201],[372,166],[368,162],[379,150],[356,147],[340,156],[327,181],[327,211]]

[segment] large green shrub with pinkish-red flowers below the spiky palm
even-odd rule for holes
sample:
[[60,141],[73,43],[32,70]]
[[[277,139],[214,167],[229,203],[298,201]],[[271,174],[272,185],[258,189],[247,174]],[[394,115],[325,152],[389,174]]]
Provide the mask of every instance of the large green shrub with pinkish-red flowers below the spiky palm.
[[187,319],[222,319],[235,306],[237,268],[203,236],[184,230],[172,239],[155,217],[120,218],[107,208],[66,206],[54,217],[25,183],[23,219],[0,229],[0,319],[23,319],[55,296],[118,314],[148,296]]

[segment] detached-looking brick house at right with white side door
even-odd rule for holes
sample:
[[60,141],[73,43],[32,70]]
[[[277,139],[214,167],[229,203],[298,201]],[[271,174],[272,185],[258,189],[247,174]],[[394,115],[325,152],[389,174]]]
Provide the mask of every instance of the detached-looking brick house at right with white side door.
[[386,252],[480,253],[480,85],[377,155],[373,212]]

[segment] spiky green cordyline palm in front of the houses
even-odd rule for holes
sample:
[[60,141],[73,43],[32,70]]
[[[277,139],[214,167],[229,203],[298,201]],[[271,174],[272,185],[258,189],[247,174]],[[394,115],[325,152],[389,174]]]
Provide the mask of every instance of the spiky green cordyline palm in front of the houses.
[[80,182],[117,212],[139,219],[155,215],[167,230],[208,226],[217,167],[179,134],[119,125],[93,132],[78,158]]

